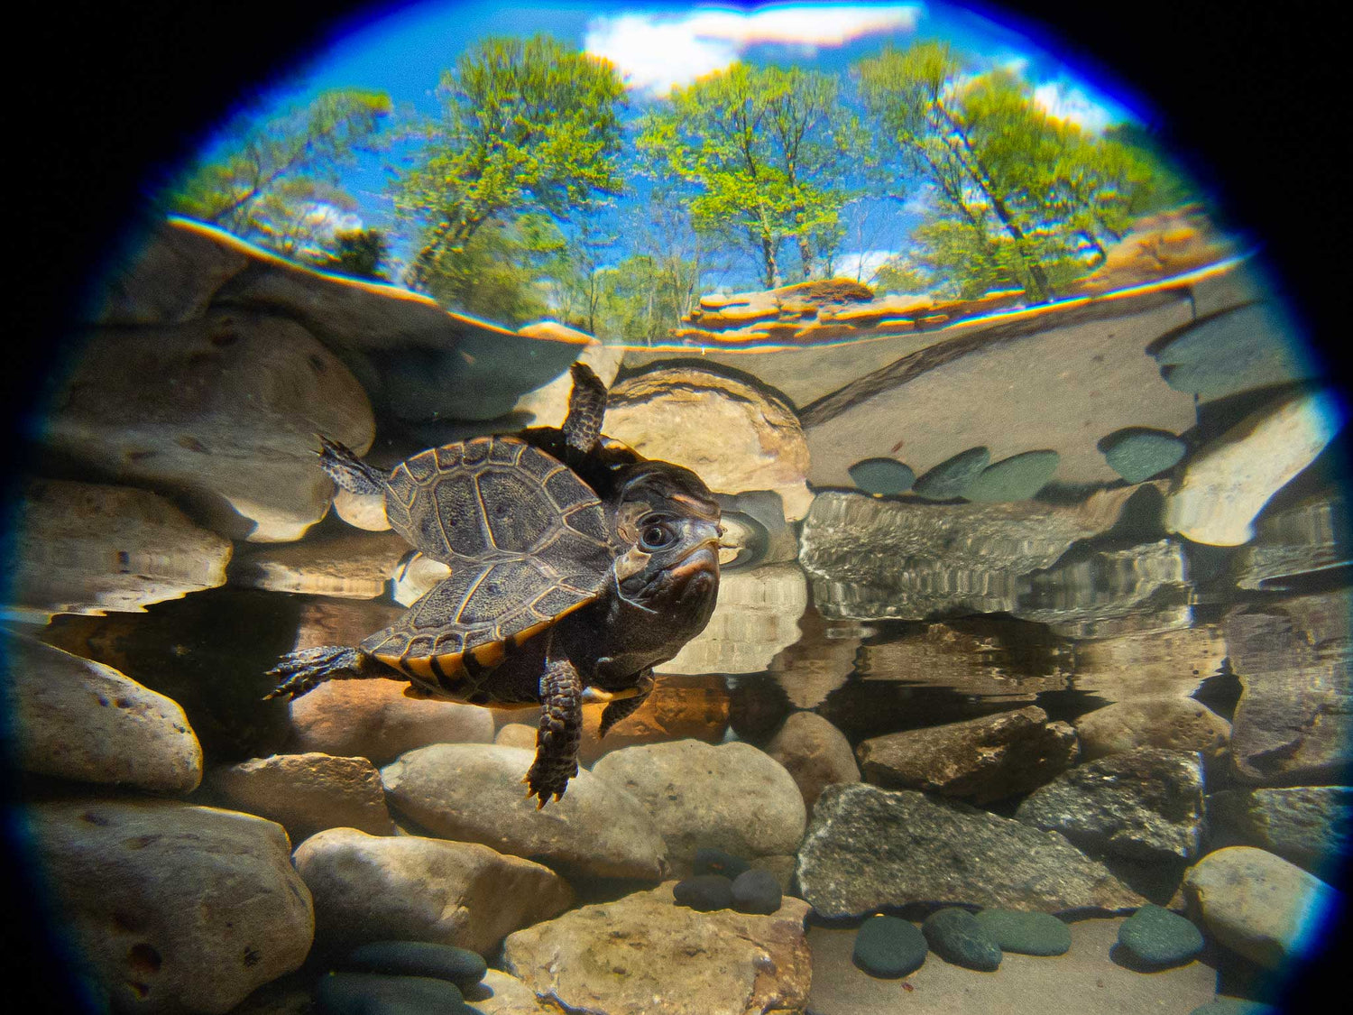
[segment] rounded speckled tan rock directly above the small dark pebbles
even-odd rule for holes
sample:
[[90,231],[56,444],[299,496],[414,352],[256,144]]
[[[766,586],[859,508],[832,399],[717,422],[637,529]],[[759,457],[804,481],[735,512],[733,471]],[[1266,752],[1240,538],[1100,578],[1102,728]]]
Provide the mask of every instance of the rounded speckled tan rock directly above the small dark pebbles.
[[808,821],[785,766],[741,742],[626,747],[597,762],[593,774],[652,815],[676,874],[691,869],[700,846],[747,859],[792,854]]

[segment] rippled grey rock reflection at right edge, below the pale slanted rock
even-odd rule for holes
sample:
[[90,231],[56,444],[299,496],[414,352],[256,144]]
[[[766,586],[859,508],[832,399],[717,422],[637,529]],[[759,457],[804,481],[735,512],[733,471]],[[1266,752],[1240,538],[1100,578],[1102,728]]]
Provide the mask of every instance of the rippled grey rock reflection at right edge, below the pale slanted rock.
[[1265,510],[1254,522],[1254,540],[1235,555],[1233,574],[1242,589],[1283,589],[1284,579],[1346,567],[1349,547],[1348,499],[1341,490],[1279,510]]

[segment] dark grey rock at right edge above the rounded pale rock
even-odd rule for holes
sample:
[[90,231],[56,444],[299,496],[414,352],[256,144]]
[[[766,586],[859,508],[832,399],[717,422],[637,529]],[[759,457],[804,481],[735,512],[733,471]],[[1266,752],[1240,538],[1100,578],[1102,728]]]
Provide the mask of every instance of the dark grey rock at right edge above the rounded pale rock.
[[1207,797],[1208,831],[1321,876],[1353,849],[1353,788],[1227,789]]

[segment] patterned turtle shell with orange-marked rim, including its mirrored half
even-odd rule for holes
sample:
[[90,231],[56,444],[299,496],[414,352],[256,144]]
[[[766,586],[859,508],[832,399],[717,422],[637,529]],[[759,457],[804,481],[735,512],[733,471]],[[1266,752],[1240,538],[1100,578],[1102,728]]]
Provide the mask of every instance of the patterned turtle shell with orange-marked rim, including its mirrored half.
[[501,700],[490,671],[507,650],[595,600],[610,574],[601,502],[517,437],[425,451],[387,486],[391,525],[451,577],[361,651],[430,689]]

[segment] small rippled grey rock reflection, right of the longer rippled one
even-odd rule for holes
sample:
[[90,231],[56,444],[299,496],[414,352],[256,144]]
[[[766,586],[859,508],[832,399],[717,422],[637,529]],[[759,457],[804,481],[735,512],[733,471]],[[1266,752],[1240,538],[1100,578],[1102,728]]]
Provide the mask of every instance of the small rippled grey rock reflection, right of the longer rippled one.
[[1068,637],[1108,637],[1188,627],[1192,601],[1183,547],[1160,540],[1096,549],[1032,574],[1011,612]]

